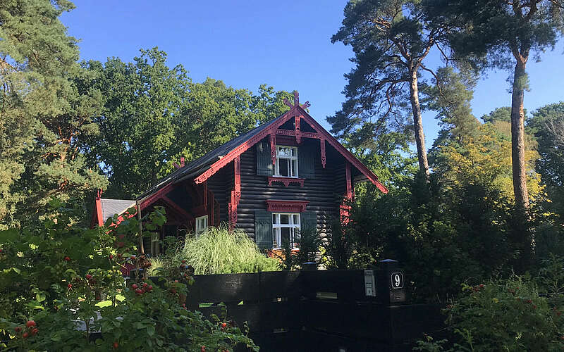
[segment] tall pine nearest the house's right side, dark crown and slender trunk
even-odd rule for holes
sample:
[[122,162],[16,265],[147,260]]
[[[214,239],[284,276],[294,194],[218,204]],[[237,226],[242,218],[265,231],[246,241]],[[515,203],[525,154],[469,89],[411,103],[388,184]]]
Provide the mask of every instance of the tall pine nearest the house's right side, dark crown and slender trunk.
[[[421,5],[409,0],[348,1],[342,26],[331,42],[352,47],[355,67],[345,75],[348,84],[341,111],[327,120],[331,132],[355,142],[355,147],[381,134],[403,133],[413,127],[423,168],[427,151],[421,138],[417,75],[431,47],[441,41],[442,32],[427,28]],[[413,124],[407,122],[410,114]]]

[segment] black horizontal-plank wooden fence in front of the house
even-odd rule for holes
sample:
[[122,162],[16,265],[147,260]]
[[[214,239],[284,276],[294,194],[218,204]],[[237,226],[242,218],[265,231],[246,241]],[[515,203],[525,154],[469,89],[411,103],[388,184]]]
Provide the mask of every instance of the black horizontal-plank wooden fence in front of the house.
[[400,303],[405,292],[392,288],[390,271],[374,274],[376,296],[367,296],[364,270],[201,275],[186,305],[221,316],[225,303],[261,351],[410,351],[424,332],[443,329],[439,306]]

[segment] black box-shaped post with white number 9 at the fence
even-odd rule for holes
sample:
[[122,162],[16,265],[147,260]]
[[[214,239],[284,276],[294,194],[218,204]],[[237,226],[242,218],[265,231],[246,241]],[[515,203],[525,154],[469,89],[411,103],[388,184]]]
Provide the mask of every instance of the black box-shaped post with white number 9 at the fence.
[[405,279],[398,260],[384,259],[376,270],[376,287],[382,303],[405,302]]

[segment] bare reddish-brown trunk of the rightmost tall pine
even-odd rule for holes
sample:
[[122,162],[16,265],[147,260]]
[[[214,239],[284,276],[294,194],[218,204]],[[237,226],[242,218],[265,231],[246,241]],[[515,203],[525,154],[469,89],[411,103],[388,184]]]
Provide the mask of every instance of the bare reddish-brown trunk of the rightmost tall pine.
[[525,174],[525,114],[523,100],[525,96],[525,60],[517,58],[511,95],[511,163],[513,166],[513,191],[515,203],[523,210],[529,208],[527,175]]

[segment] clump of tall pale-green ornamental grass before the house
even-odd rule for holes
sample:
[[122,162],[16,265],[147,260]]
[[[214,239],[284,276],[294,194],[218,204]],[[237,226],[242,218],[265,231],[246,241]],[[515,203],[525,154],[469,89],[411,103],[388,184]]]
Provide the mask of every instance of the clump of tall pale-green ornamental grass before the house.
[[198,237],[188,235],[180,253],[195,275],[278,270],[278,260],[266,258],[242,230],[209,227]]

